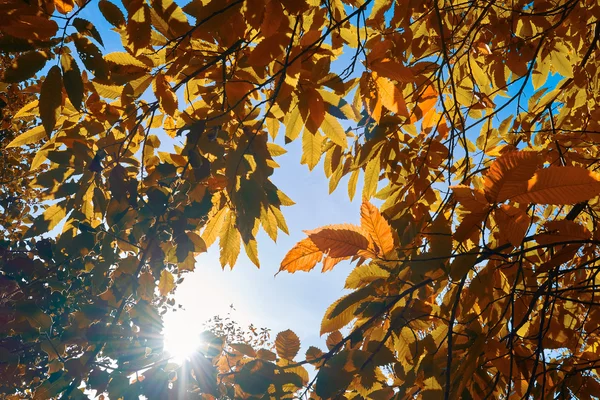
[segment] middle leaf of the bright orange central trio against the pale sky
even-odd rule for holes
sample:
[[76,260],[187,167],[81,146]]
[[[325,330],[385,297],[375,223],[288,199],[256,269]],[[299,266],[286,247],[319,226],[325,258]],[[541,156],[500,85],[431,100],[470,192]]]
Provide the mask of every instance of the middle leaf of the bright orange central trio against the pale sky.
[[329,225],[306,233],[320,251],[334,258],[355,256],[369,247],[369,240],[355,225]]

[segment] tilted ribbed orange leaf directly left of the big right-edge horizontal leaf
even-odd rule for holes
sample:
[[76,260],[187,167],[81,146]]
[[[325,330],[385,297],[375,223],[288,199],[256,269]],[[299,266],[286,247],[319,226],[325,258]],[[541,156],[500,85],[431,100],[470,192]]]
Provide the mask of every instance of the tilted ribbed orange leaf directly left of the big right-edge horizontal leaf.
[[490,165],[483,181],[485,196],[490,203],[501,203],[522,193],[539,165],[539,155],[533,151],[511,151],[501,155]]

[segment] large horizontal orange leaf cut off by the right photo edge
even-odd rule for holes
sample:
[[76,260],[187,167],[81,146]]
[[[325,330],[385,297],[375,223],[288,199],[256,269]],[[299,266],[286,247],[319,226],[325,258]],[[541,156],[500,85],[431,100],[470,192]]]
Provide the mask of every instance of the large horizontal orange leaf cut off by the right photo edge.
[[600,174],[581,167],[552,166],[538,170],[524,191],[511,193],[519,203],[576,204],[600,194]]

